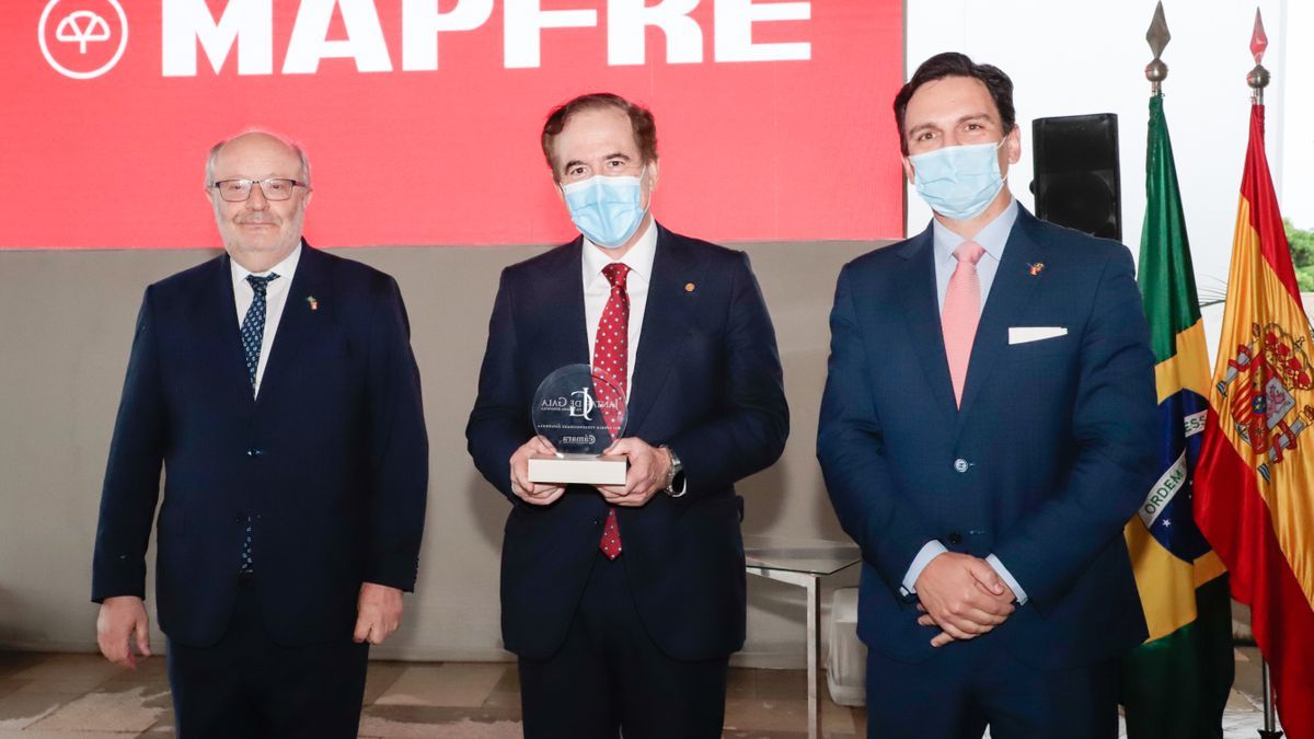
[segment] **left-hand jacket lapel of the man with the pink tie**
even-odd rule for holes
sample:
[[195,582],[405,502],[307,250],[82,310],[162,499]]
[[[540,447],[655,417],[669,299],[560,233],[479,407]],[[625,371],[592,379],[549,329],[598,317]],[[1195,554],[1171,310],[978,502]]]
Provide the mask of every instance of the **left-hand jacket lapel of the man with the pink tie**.
[[904,314],[908,320],[908,341],[921,362],[922,375],[934,394],[936,408],[953,418],[954,384],[949,377],[949,359],[945,355],[945,335],[940,325],[940,302],[936,287],[936,250],[932,229],[926,229],[903,249],[907,259],[903,285]]

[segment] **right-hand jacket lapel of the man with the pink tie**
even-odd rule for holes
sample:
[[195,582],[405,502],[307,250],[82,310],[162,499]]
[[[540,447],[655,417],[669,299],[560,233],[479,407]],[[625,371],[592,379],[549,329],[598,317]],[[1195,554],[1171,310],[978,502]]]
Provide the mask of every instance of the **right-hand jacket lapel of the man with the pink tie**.
[[963,417],[972,408],[972,401],[989,379],[991,371],[1000,355],[1008,347],[1008,327],[1030,302],[1043,275],[1031,275],[1031,264],[1041,262],[1041,246],[1030,238],[1030,225],[1034,217],[1018,206],[1017,222],[1004,247],[1004,259],[999,263],[986,310],[976,326],[972,341],[972,356],[967,363],[967,383],[963,387],[963,405],[959,413],[959,429]]

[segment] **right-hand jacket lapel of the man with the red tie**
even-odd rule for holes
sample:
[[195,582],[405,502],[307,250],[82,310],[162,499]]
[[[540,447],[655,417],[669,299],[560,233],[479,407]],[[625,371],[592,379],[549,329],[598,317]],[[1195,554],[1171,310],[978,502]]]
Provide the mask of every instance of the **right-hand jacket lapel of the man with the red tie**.
[[657,255],[648,283],[648,305],[644,308],[633,384],[629,388],[627,437],[635,435],[640,429],[671,363],[679,356],[699,297],[696,289],[686,291],[685,287],[698,285],[703,271],[704,266],[699,264],[692,250],[658,224]]

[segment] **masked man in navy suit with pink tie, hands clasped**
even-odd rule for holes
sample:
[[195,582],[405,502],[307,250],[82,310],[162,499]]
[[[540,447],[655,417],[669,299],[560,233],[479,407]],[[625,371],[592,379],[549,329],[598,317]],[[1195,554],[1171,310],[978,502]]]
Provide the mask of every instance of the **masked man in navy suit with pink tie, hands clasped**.
[[869,735],[1113,738],[1146,636],[1122,526],[1152,483],[1127,250],[1004,178],[1013,85],[962,54],[895,99],[921,234],[845,266],[817,456],[862,547]]

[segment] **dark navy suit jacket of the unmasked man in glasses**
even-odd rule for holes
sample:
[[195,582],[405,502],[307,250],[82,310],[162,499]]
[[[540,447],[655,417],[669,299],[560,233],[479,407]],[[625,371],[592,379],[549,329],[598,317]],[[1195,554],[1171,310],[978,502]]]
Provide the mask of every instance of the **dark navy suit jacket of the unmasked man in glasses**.
[[409,335],[392,277],[302,243],[252,398],[229,256],[146,288],[92,598],[143,596],[162,463],[155,593],[170,639],[222,636],[247,515],[261,611],[280,643],[350,638],[363,581],[410,590],[428,446]]

